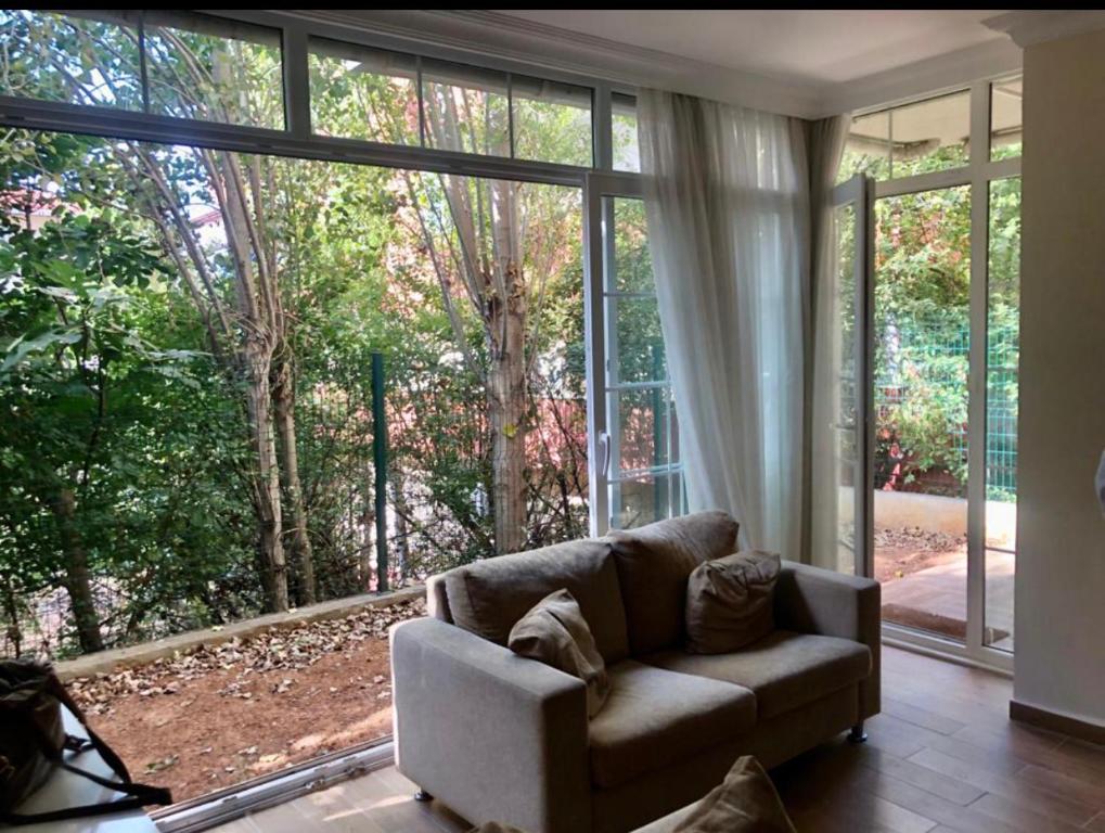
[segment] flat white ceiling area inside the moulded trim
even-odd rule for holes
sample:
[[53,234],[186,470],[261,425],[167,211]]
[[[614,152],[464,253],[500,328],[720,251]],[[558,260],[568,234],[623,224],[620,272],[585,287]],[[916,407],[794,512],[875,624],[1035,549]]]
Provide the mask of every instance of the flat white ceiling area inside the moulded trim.
[[501,14],[780,81],[839,84],[1001,40],[1000,9],[498,10]]

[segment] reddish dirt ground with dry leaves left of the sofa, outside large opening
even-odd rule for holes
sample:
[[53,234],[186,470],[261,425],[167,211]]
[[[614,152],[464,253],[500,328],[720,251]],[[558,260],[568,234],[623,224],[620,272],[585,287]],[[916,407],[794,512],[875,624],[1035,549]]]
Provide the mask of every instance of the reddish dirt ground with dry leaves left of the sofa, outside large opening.
[[366,609],[69,688],[136,780],[183,801],[390,734],[387,628],[423,614]]

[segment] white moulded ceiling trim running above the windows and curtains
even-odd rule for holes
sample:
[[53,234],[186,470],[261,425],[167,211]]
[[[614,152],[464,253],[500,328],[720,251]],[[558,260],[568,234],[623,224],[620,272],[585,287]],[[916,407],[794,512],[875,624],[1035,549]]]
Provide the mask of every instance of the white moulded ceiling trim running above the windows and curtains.
[[407,42],[412,50],[419,44],[433,44],[472,56],[590,76],[615,87],[659,87],[802,118],[894,104],[1015,72],[1021,66],[1021,50],[1001,39],[854,81],[818,84],[734,70],[486,10],[325,9],[278,13],[376,32]]

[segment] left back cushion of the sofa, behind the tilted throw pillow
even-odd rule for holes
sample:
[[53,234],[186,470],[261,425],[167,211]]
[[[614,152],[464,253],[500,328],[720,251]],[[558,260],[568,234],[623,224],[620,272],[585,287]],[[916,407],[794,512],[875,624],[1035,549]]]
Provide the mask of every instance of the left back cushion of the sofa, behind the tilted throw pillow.
[[579,603],[594,644],[608,663],[629,653],[625,608],[610,542],[579,540],[474,561],[444,573],[454,624],[498,645],[549,593],[566,589]]

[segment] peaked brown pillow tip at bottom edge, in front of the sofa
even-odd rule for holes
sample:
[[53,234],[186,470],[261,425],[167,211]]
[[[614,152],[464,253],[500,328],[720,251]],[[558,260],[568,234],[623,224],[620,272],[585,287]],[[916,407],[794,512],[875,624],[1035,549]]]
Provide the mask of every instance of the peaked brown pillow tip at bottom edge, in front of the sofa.
[[673,833],[798,832],[764,767],[746,755]]

